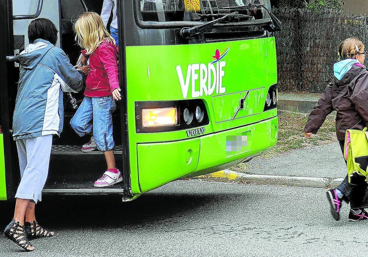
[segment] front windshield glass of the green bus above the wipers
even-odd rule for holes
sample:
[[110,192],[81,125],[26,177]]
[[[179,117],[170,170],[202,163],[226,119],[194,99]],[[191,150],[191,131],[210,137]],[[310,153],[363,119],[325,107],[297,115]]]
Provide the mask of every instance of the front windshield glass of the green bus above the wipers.
[[201,22],[238,12],[241,21],[269,19],[269,0],[140,0],[143,22]]

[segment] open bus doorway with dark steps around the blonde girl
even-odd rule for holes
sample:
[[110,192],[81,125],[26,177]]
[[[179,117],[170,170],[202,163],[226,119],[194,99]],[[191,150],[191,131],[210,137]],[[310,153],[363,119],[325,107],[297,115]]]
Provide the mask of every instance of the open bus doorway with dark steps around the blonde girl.
[[[60,46],[68,55],[72,65],[77,65],[82,49],[75,43],[73,24],[79,15],[85,11],[95,11],[100,14],[102,4],[103,0],[29,0],[26,3],[21,0],[13,0],[15,14],[13,17],[14,41],[16,42],[17,53],[24,50],[29,43],[27,35],[29,23],[35,18],[48,18],[59,28],[57,46]],[[19,68],[17,72],[19,76]],[[18,81],[18,78],[14,79],[14,83]],[[8,89],[9,98],[11,99],[9,115],[12,116],[15,108],[17,86],[12,85]],[[103,170],[106,170],[103,152],[82,152],[81,146],[89,141],[89,137],[79,137],[70,126],[70,120],[83,98],[83,92],[64,93],[63,132],[60,138],[55,137],[53,141],[49,177],[44,193],[103,193],[103,189],[95,190],[93,188],[93,182],[100,177]],[[122,163],[121,156],[123,155],[118,104],[117,107],[113,113],[113,137],[116,163],[119,165],[119,163]],[[17,156],[16,151],[12,155]],[[13,175],[19,176],[18,174],[19,166],[17,170],[13,171]],[[14,184],[17,184],[17,182]],[[116,184],[108,189],[121,193],[123,192],[123,183]]]

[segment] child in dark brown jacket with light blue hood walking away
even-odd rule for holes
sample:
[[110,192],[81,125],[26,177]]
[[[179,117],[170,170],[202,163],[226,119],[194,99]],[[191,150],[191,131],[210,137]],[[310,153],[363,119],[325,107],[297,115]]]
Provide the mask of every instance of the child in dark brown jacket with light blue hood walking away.
[[[305,125],[305,137],[316,134],[326,117],[336,114],[336,135],[344,152],[345,133],[348,129],[363,130],[368,126],[368,71],[363,65],[364,44],[357,38],[344,40],[339,46],[340,61],[334,65],[334,77],[315,105]],[[327,191],[331,214],[340,220],[342,202],[350,202],[349,221],[368,220],[367,185],[350,184],[348,176],[335,189]]]

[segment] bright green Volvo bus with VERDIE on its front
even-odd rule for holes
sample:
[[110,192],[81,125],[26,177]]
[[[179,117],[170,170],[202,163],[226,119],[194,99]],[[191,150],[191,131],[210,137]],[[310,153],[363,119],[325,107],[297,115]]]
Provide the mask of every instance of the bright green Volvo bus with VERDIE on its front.
[[[55,138],[44,194],[118,194],[132,200],[171,181],[247,162],[277,141],[274,33],[269,0],[117,0],[122,100],[113,115],[114,151],[124,181],[94,188],[103,154],[70,128],[82,93],[64,95],[64,131]],[[103,0],[0,0],[0,200],[20,181],[12,117],[32,19],[59,27],[72,64],[81,49],[73,21],[100,13]]]

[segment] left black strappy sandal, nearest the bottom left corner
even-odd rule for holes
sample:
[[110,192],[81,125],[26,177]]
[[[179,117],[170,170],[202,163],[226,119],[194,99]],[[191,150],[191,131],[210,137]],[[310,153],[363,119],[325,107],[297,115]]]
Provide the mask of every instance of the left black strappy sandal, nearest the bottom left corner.
[[[12,231],[13,230],[13,231]],[[5,228],[4,236],[22,247],[26,251],[33,251],[29,250],[28,247],[32,246],[27,238],[27,234],[25,232],[25,227],[19,224],[18,222],[15,222],[13,219]],[[21,243],[22,242],[22,243]],[[33,246],[32,246],[33,247]]]

